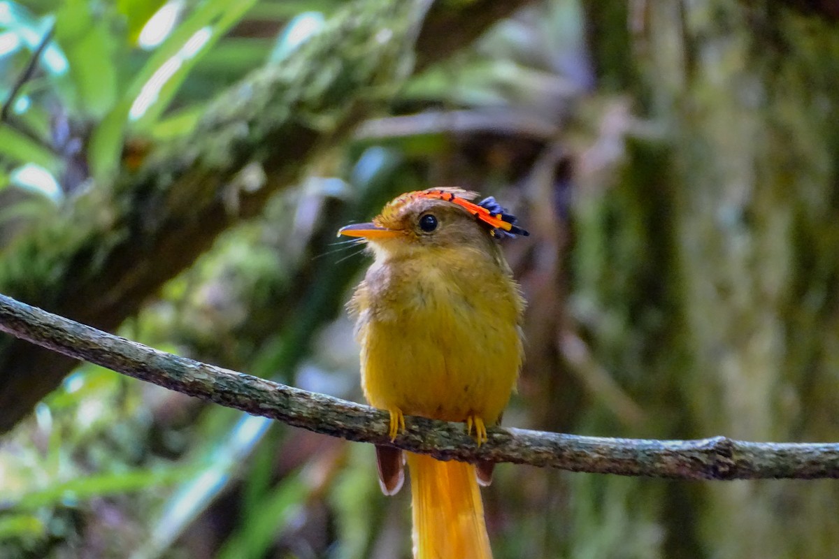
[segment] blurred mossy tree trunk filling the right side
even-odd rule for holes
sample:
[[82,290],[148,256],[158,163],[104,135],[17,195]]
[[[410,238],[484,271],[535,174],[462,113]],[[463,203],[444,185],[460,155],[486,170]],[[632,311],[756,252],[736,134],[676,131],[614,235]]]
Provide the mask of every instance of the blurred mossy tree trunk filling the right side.
[[[836,440],[839,26],[772,2],[630,5],[589,6],[592,49],[664,141],[628,140],[612,184],[580,173],[571,257],[576,318],[649,419],[623,434]],[[619,434],[599,408],[579,425]],[[833,481],[571,484],[569,556],[835,553]]]

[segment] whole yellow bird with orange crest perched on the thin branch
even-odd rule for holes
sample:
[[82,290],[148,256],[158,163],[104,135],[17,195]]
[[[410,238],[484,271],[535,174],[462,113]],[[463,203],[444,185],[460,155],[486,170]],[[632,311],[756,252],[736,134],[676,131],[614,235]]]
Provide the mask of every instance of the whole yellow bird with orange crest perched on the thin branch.
[[[347,307],[356,318],[362,391],[404,416],[464,422],[477,445],[500,422],[524,359],[524,297],[499,240],[527,236],[490,197],[459,188],[402,194],[370,223],[338,233],[367,243],[373,263]],[[405,456],[404,456],[405,454]],[[443,462],[376,447],[379,484],[396,494],[407,458],[415,559],[492,557],[478,484],[494,464]]]

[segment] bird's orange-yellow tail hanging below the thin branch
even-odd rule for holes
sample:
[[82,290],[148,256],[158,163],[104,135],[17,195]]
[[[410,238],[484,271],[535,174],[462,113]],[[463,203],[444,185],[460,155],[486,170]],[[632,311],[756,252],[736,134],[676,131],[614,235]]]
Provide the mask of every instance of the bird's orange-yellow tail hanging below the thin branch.
[[408,454],[415,559],[492,559],[475,466]]

